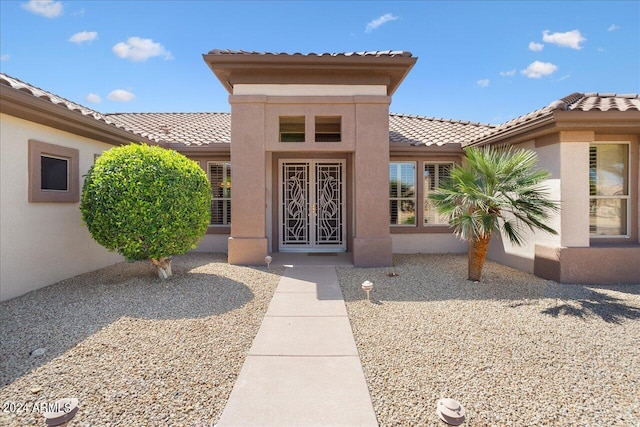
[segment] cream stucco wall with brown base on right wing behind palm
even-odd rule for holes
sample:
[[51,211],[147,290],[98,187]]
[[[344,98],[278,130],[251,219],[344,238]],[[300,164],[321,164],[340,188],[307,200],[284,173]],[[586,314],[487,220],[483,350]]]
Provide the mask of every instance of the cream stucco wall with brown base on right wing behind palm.
[[634,276],[640,281],[640,269],[633,261],[640,251],[637,226],[632,226],[630,238],[602,242],[606,245],[589,236],[589,145],[594,141],[630,142],[630,215],[638,221],[637,137],[558,132],[517,145],[534,150],[538,166],[551,172],[546,185],[550,198],[561,201],[561,210],[547,224],[558,235],[528,231],[522,247],[494,236],[489,259],[563,283],[628,283]]

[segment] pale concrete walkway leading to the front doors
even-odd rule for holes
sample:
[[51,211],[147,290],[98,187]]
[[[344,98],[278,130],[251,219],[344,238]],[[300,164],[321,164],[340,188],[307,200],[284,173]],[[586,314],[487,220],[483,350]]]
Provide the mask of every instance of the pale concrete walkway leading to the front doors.
[[217,426],[377,425],[335,268],[288,268]]

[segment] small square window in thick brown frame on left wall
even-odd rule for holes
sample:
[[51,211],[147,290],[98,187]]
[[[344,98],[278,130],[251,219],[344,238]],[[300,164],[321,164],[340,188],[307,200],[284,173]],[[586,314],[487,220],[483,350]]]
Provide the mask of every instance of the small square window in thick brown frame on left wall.
[[29,141],[29,202],[80,201],[80,153],[74,148]]

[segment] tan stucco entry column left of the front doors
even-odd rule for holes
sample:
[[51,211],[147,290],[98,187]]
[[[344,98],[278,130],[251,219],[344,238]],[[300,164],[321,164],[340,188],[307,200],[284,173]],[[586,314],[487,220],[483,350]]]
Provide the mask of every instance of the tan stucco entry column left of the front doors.
[[229,264],[264,264],[266,237],[265,96],[230,96],[231,237]]

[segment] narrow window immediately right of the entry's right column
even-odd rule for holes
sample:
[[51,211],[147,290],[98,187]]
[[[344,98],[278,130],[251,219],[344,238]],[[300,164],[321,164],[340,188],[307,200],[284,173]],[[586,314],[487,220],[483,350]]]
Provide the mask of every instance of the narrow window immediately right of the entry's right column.
[[416,163],[389,163],[391,225],[416,224]]

